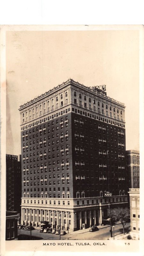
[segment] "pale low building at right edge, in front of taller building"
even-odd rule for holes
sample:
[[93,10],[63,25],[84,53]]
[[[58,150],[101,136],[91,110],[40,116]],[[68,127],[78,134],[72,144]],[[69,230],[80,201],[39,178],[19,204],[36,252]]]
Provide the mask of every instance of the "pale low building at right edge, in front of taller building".
[[130,188],[130,218],[131,218],[131,238],[140,239],[140,189]]

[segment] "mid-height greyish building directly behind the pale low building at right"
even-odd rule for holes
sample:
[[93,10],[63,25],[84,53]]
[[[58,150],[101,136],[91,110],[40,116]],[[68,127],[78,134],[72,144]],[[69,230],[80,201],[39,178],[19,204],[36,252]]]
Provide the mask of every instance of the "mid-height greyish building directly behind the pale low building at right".
[[126,150],[126,165],[129,188],[140,188],[140,152]]

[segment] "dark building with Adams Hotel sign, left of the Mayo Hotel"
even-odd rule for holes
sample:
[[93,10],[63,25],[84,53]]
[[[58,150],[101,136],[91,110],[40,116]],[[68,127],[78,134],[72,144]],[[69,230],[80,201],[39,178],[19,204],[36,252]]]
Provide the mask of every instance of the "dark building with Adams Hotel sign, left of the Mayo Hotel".
[[21,212],[21,156],[6,155],[6,210]]

